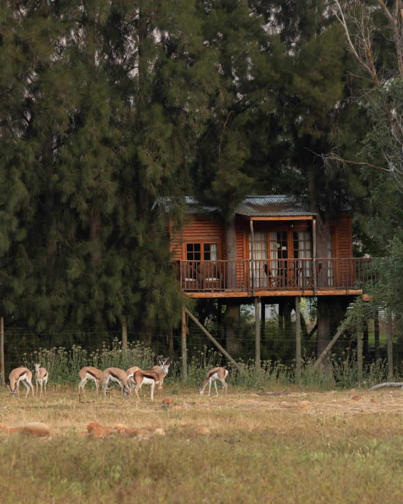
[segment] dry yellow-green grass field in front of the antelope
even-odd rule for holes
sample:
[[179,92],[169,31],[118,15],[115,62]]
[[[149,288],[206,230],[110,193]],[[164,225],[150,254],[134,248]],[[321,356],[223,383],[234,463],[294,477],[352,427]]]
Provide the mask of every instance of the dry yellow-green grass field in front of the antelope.
[[[49,386],[42,400],[2,390],[0,424],[40,421],[51,435],[0,430],[1,502],[402,500],[398,389],[258,396],[229,387],[226,397],[210,398],[166,389],[168,406],[158,395],[151,402],[146,386],[139,401],[117,393],[103,399],[88,386],[82,403],[70,388]],[[94,421],[149,432],[95,437],[87,431]]]

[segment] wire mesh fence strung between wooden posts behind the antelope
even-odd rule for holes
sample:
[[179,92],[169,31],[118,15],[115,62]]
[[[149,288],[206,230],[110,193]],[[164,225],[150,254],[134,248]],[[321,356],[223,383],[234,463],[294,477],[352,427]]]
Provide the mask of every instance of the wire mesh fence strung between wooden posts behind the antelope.
[[[241,365],[242,377],[236,373],[230,362],[208,337],[192,322],[188,323],[186,335],[187,381],[200,385],[206,370],[216,365],[226,365],[233,372],[230,382],[256,387],[276,383],[296,381],[296,323],[279,324],[278,319],[265,320],[260,328],[260,366],[255,365],[254,321],[243,322],[229,332],[224,324],[204,321],[210,334]],[[382,326],[382,324],[381,324]],[[310,331],[308,331],[310,329]],[[334,331],[329,331],[324,339],[330,340]],[[100,369],[120,367],[127,369],[138,365],[142,369],[151,368],[157,356],[170,357],[171,379],[182,380],[181,332],[179,329],[169,333],[128,332],[128,346],[124,347],[120,331],[59,332],[34,334],[21,329],[12,329],[5,334],[6,380],[10,370],[19,365],[33,367],[33,361],[41,361],[48,366],[53,383],[73,383],[77,381],[78,371],[85,365]],[[305,383],[318,383],[322,378],[313,371],[317,351],[317,337],[314,322],[307,325],[301,334],[302,379]],[[357,334],[346,333],[334,344],[330,361],[335,382],[349,386],[357,382],[356,359]],[[398,343],[395,340],[398,350]],[[386,334],[380,334],[378,351],[375,349],[375,334],[371,325],[364,337],[364,379],[376,383],[387,375]],[[400,361],[398,351],[395,361]],[[400,366],[395,366],[398,376]],[[260,373],[258,380],[256,373]],[[309,374],[310,373],[310,374]],[[330,382],[329,382],[330,384]],[[334,382],[333,382],[334,385]]]

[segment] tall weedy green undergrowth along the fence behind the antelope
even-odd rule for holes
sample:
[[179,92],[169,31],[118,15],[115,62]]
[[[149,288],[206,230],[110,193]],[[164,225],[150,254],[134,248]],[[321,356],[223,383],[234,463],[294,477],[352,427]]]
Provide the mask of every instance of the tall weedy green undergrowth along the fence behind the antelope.
[[[216,366],[224,365],[223,355],[214,348],[204,346],[203,351],[193,349],[193,355],[188,361],[187,377],[183,379],[181,359],[173,361],[168,381],[172,378],[175,383],[200,387],[207,371]],[[155,364],[156,355],[149,347],[140,341],[128,343],[122,348],[121,341],[115,338],[112,345],[102,345],[100,349],[88,352],[79,345],[73,345],[70,350],[64,347],[51,349],[40,348],[30,354],[23,355],[24,365],[32,368],[32,362],[41,362],[49,372],[49,379],[54,384],[78,383],[79,370],[84,366],[94,366],[99,369],[118,367],[127,369],[138,365],[142,369],[151,369]],[[357,358],[355,352],[342,357],[332,355],[327,368],[315,365],[314,357],[304,357],[301,362],[301,379],[296,380],[295,362],[286,365],[280,360],[263,360],[260,366],[255,365],[254,359],[238,360],[241,368],[229,363],[227,383],[254,390],[273,388],[297,384],[308,390],[329,390],[334,388],[350,389],[361,384],[357,381]],[[363,383],[372,386],[387,381],[387,361],[378,359],[363,365]],[[393,371],[393,380],[399,381],[397,368]]]

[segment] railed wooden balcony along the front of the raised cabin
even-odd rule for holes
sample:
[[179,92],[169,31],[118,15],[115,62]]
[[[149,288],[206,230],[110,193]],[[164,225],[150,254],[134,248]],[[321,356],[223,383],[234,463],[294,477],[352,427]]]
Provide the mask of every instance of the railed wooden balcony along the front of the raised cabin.
[[189,297],[358,295],[371,280],[372,258],[179,261]]

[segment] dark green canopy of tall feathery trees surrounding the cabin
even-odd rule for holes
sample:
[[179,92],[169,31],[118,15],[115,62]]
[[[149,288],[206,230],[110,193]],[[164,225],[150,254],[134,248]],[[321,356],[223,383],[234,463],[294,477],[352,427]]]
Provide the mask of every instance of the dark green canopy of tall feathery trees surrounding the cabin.
[[[166,220],[151,211],[158,196],[178,197],[170,218],[180,225],[185,195],[231,222],[248,193],[297,194],[323,232],[349,202],[362,215],[361,253],[368,243],[397,260],[401,21],[393,2],[365,4],[4,2],[0,300],[10,323],[175,325],[183,297]],[[366,40],[376,60],[354,53]]]

